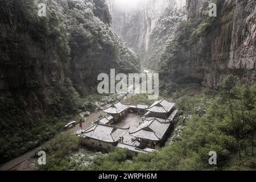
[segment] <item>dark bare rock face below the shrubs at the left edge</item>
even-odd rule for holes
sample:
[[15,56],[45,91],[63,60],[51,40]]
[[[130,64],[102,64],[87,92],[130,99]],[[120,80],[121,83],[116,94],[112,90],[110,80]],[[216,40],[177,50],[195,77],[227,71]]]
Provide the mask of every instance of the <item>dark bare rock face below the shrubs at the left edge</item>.
[[[2,25],[1,22],[0,90],[50,87],[64,81],[63,63],[56,47],[42,48],[27,32]],[[45,40],[46,45],[50,42]]]

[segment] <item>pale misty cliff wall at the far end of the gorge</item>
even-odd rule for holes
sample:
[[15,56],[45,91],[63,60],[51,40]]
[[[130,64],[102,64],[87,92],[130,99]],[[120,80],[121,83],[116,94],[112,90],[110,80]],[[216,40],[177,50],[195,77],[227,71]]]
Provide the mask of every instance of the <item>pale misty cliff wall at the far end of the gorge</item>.
[[[166,35],[170,36],[175,30],[176,23],[185,18],[185,12],[182,11],[185,0],[123,2],[109,0],[113,17],[111,27],[123,38],[127,46],[133,48],[141,56],[142,64],[147,67],[146,62],[151,59],[147,55],[158,52],[159,46],[164,46]],[[163,30],[164,26],[166,27]],[[159,38],[164,41],[157,44],[161,42]],[[156,46],[158,48],[155,48]],[[159,57],[156,57],[150,62],[158,59]]]

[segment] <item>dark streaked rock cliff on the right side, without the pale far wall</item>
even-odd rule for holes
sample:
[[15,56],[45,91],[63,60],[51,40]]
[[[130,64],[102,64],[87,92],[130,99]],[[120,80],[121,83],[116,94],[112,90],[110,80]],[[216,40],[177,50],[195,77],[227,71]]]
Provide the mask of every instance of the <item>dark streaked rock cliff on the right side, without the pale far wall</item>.
[[256,2],[218,1],[217,18],[204,15],[208,5],[208,1],[187,0],[184,29],[190,30],[183,35],[189,43],[178,42],[177,51],[172,50],[173,45],[167,48],[163,56],[167,64],[162,68],[168,69],[162,71],[162,78],[198,82],[210,88],[219,88],[229,75],[238,82],[255,82]]

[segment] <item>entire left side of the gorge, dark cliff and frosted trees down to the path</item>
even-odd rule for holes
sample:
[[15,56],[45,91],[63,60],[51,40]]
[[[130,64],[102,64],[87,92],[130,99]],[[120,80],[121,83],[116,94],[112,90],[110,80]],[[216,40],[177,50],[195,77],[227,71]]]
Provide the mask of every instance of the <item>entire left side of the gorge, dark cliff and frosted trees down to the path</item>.
[[[46,3],[46,17],[38,16],[39,2]],[[79,97],[95,86],[99,73],[141,68],[138,56],[109,28],[105,0],[0,3],[3,162],[53,137],[77,113]]]

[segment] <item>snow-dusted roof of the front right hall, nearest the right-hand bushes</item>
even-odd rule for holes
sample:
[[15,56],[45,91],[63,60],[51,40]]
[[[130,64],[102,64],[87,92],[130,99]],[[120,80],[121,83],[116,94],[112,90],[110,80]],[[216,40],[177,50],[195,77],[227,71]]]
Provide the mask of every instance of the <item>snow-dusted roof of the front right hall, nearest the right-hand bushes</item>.
[[159,141],[166,133],[170,122],[160,122],[158,119],[144,121],[137,130],[129,133],[133,137]]

